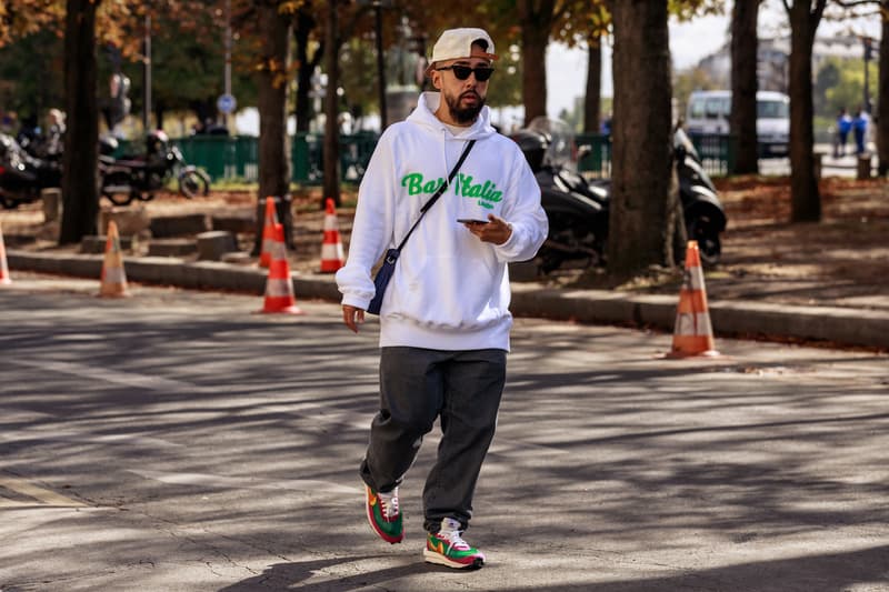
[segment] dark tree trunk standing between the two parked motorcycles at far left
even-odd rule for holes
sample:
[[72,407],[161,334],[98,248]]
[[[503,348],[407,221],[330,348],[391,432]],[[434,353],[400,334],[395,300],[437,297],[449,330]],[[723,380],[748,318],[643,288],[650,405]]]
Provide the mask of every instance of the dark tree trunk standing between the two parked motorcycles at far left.
[[[96,101],[96,10],[101,0],[68,0],[64,19],[62,223],[59,243],[97,233],[99,215],[99,109]],[[104,230],[104,229],[102,229]]]

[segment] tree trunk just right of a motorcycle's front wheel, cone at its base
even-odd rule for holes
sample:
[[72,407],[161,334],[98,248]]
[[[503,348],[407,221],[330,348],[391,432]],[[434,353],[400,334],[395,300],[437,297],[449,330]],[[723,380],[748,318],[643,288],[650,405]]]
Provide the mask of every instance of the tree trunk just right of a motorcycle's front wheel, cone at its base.
[[262,247],[266,198],[277,198],[278,221],[284,227],[284,244],[293,245],[290,212],[290,159],[287,150],[287,82],[290,19],[279,14],[277,1],[259,6],[262,68],[257,80],[259,107],[259,200],[253,251]]

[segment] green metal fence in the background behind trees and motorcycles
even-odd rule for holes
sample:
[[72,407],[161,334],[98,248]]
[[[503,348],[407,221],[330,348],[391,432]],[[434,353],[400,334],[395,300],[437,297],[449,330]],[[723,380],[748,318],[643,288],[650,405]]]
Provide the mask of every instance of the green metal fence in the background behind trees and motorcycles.
[[[712,175],[729,174],[735,168],[735,138],[725,134],[689,134],[701,157],[705,170]],[[340,136],[340,179],[357,183],[364,174],[377,146],[376,132]],[[213,181],[259,179],[259,139],[256,137],[191,136],[172,142],[186,162],[208,172]],[[578,134],[578,170],[587,177],[611,175],[611,139],[598,133]],[[139,142],[120,142],[114,155],[139,152]],[[323,181],[323,136],[297,133],[290,144],[291,179],[296,183],[319,185]]]

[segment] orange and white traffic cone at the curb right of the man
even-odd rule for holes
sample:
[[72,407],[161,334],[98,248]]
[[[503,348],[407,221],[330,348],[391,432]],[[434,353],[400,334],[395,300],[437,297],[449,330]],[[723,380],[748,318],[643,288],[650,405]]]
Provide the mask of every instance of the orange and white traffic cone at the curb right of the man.
[[686,277],[679,291],[673,347],[669,354],[671,358],[689,355],[719,355],[713,344],[713,329],[707,310],[707,290],[697,241],[688,241],[686,249]]

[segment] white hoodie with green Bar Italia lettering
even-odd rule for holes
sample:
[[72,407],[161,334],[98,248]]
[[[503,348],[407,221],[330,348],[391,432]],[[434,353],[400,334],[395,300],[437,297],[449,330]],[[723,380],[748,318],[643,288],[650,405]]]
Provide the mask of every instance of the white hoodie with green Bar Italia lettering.
[[[342,303],[367,310],[371,268],[399,244],[475,139],[401,250],[380,310],[380,347],[509,350],[507,262],[531,259],[547,237],[540,187],[519,147],[490,126],[487,107],[456,137],[434,116],[439,100],[424,92],[407,121],[380,137],[358,191],[349,258],[337,272]],[[457,221],[488,213],[512,225],[503,244],[481,242]]]

